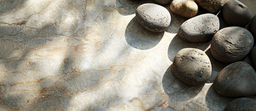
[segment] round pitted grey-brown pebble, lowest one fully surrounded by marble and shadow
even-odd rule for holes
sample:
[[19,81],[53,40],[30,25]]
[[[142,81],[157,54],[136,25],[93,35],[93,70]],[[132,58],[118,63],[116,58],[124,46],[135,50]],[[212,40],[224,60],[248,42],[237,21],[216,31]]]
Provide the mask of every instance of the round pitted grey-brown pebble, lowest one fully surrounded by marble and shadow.
[[212,66],[204,51],[185,48],[174,57],[172,70],[181,81],[190,85],[199,85],[210,78]]

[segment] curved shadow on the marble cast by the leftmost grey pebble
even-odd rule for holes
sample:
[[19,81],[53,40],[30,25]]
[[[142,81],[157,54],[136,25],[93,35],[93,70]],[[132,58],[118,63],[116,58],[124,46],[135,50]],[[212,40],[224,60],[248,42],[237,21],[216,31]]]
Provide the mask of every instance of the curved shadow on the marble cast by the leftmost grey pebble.
[[164,36],[164,33],[148,31],[134,17],[125,29],[125,40],[133,48],[146,50],[156,46]]

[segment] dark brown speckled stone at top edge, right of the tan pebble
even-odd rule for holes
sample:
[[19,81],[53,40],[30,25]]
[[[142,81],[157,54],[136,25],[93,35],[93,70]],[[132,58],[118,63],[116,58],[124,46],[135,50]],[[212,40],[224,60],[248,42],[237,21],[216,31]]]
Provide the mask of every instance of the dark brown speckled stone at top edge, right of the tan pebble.
[[194,0],[199,6],[210,13],[217,14],[220,12],[227,0]]

